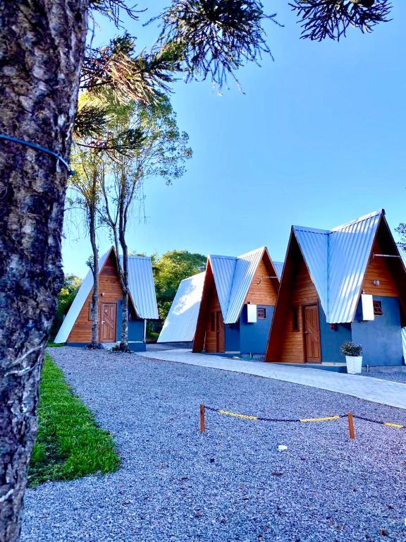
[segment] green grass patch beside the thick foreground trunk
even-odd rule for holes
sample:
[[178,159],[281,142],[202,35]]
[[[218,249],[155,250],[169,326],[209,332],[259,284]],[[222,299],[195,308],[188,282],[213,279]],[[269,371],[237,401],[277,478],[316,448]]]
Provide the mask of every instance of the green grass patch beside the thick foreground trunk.
[[29,486],[106,474],[119,468],[121,459],[113,438],[97,426],[92,412],[73,393],[48,354],[39,388],[38,423]]

